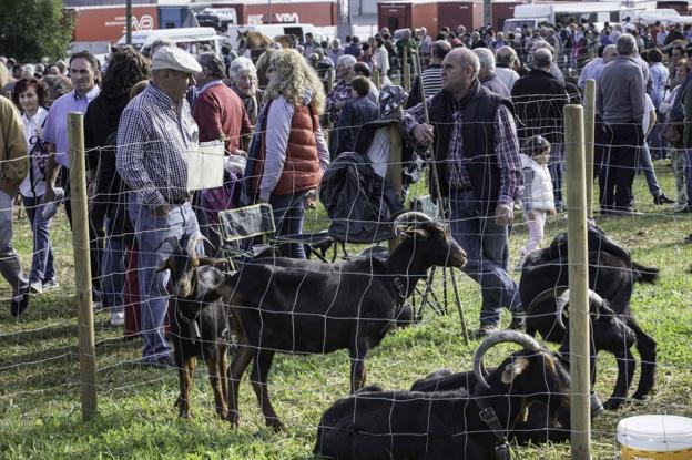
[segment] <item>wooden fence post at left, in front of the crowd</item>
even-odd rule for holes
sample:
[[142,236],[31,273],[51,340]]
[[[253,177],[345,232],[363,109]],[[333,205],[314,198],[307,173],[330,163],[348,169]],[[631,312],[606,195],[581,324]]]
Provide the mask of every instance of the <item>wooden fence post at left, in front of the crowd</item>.
[[80,112],[70,112],[68,115],[68,136],[82,419],[90,420],[96,415],[96,349],[91,304],[84,115]]

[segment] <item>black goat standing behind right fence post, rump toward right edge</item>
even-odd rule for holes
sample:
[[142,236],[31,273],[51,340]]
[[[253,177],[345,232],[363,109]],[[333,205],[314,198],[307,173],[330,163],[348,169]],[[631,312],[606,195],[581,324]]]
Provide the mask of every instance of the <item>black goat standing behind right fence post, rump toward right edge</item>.
[[[588,241],[589,288],[609,303],[612,311],[637,337],[642,368],[639,387],[633,397],[642,399],[653,388],[657,344],[637,323],[630,307],[630,298],[634,283],[655,283],[659,269],[633,262],[627,249],[614,243],[597,226],[589,226]],[[567,254],[567,234],[562,233],[553,238],[550,246],[535,251],[527,257],[519,282],[519,296],[527,310],[527,334],[533,336],[539,333],[543,339],[556,344],[562,343],[566,334],[566,327],[560,320],[561,314],[558,314],[557,299],[569,285]],[[610,351],[618,361],[615,388],[611,398],[603,405],[607,409],[617,409],[627,399],[637,367],[630,351],[632,343],[628,340],[618,343],[612,337],[600,335],[597,328],[592,331],[592,352]],[[592,371],[596,372],[594,365]]]

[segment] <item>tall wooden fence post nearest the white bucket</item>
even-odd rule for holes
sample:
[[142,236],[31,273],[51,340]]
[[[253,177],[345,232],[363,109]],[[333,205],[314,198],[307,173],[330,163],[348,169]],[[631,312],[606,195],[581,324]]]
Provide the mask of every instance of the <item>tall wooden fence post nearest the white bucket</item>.
[[564,108],[570,305],[571,458],[591,458],[589,370],[589,252],[587,247],[587,171],[581,105]]

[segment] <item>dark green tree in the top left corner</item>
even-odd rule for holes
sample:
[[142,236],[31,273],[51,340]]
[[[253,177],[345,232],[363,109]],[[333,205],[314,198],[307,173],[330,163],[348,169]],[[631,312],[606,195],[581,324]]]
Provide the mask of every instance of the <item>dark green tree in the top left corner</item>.
[[2,0],[0,54],[20,62],[63,58],[73,28],[62,0]]

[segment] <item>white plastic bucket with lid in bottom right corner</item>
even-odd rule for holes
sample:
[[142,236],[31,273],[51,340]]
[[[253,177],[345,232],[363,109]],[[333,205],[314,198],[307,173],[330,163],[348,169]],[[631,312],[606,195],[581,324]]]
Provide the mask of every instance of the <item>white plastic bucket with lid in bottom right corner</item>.
[[620,420],[622,460],[692,460],[692,419],[638,416]]

